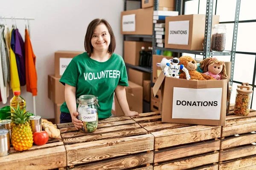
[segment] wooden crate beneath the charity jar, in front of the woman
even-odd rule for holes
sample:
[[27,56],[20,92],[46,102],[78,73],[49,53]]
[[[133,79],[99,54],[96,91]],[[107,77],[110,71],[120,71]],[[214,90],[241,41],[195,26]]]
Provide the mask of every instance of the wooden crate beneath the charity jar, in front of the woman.
[[92,133],[80,132],[72,123],[58,127],[71,169],[149,170],[153,163],[154,136],[130,117],[99,120],[98,129]]

